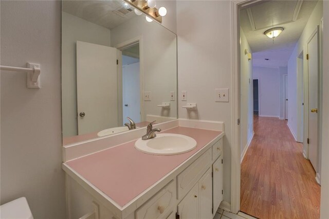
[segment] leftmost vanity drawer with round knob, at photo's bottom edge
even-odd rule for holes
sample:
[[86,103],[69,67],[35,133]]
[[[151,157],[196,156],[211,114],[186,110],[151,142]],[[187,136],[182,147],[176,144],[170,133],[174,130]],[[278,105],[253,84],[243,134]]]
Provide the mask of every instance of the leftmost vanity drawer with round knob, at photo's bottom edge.
[[136,219],[167,218],[175,210],[176,185],[172,180],[135,211]]

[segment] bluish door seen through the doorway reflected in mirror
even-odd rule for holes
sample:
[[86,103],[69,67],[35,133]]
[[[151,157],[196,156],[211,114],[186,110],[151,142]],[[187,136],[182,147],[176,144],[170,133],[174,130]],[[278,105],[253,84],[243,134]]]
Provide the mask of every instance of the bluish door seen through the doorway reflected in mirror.
[[122,66],[123,124],[130,117],[140,122],[140,74],[139,62]]

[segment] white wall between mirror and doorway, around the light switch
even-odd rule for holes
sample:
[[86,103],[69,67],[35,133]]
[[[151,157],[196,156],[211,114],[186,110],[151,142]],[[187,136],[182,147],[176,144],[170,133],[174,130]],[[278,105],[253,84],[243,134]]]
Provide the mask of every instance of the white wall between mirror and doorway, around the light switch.
[[[231,201],[231,103],[215,102],[215,88],[231,88],[229,1],[177,1],[179,118],[225,122],[224,200]],[[197,111],[182,108],[181,91]]]

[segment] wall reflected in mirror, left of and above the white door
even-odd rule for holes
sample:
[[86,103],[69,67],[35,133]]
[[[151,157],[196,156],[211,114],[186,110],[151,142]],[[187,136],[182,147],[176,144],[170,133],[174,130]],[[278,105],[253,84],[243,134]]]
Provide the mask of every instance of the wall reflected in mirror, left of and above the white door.
[[77,124],[77,41],[110,46],[105,27],[62,12],[62,117],[63,136],[78,135]]

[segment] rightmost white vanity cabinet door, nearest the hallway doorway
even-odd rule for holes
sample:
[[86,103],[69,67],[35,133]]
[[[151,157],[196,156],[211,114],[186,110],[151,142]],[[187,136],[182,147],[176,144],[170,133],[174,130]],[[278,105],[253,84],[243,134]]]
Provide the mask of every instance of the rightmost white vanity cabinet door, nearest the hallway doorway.
[[212,198],[213,198],[213,215],[216,213],[218,207],[220,206],[223,200],[223,163],[222,156],[212,165]]

